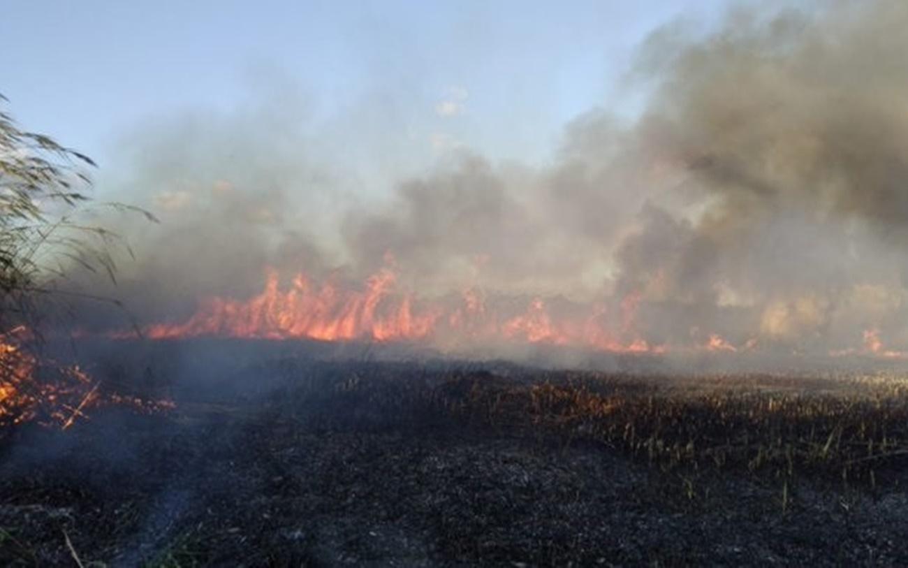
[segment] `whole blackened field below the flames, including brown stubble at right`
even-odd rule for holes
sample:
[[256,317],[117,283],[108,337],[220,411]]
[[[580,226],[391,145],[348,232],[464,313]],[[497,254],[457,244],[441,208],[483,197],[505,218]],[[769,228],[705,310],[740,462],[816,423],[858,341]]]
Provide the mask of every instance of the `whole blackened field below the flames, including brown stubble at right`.
[[0,446],[5,565],[908,561],[888,369],[552,370],[293,342],[96,342],[97,409]]

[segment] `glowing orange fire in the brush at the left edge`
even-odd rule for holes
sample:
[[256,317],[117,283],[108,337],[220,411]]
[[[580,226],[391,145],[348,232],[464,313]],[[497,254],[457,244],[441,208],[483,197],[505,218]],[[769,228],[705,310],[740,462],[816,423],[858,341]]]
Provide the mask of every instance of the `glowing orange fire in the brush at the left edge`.
[[24,347],[29,339],[24,326],[0,334],[0,427],[35,421],[65,430],[105,404],[125,404],[143,412],[173,407],[169,401],[102,394],[100,382],[78,365],[39,360]]

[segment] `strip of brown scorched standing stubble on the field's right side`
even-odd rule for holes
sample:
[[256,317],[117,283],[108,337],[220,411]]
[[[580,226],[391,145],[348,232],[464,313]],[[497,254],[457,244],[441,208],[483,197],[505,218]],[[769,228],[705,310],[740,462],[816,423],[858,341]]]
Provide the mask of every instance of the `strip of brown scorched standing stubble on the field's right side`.
[[772,375],[615,379],[558,376],[471,391],[454,412],[604,443],[663,471],[737,469],[877,481],[908,455],[908,382]]

